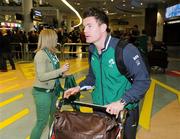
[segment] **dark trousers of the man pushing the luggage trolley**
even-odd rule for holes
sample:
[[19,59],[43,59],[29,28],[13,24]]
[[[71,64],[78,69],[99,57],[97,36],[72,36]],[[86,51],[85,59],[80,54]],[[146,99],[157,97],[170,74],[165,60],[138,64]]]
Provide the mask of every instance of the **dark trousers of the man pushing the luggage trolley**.
[[128,110],[123,139],[136,139],[136,132],[139,122],[139,107]]

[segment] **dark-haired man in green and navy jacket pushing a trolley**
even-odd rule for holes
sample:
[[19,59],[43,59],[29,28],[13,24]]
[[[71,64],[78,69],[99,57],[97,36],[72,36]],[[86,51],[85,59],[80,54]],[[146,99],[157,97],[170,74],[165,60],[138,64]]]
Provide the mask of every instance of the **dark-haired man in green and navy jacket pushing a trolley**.
[[79,86],[65,91],[64,97],[76,94],[82,88],[94,86],[92,101],[105,105],[106,112],[118,115],[126,108],[124,139],[135,139],[139,120],[138,102],[150,85],[150,78],[136,47],[128,44],[123,50],[124,64],[133,77],[132,83],[119,72],[115,62],[115,48],[119,41],[108,32],[108,17],[104,11],[90,8],[83,14],[84,33],[89,47],[89,72]]

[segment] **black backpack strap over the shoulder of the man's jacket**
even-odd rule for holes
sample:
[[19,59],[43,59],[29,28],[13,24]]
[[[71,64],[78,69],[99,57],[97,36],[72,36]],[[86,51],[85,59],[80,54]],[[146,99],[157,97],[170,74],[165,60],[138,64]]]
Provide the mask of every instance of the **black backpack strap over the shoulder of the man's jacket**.
[[129,82],[132,83],[132,77],[124,64],[123,59],[123,49],[127,46],[127,44],[128,42],[123,40],[120,40],[117,43],[117,46],[115,48],[115,61],[119,72],[124,75],[129,80]]

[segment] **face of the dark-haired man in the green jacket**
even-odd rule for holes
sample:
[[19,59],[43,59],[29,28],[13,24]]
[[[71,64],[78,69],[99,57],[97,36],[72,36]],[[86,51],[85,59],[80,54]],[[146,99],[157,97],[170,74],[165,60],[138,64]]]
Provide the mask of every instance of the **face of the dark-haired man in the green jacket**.
[[95,17],[87,17],[83,19],[84,34],[87,43],[96,43],[102,36],[102,25],[95,19]]

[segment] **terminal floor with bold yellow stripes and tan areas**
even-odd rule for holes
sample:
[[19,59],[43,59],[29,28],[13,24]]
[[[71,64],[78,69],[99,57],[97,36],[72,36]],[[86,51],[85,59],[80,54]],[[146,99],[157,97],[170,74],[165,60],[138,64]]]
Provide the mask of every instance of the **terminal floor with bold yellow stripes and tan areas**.
[[[76,81],[82,80],[87,72],[87,59],[73,59],[69,62],[69,74],[75,74]],[[28,139],[35,122],[35,107],[31,95],[34,81],[33,63],[16,63],[17,70],[0,72],[0,138]],[[9,67],[10,69],[10,67]],[[138,139],[178,139],[180,138],[180,59],[170,59],[170,70],[177,76],[152,74],[153,84],[144,102],[141,102]],[[63,83],[63,81],[62,81]],[[91,101],[90,93],[83,93],[82,101]],[[152,104],[152,105],[151,105]],[[81,108],[83,111],[91,111]],[[48,129],[42,139],[47,139]]]

